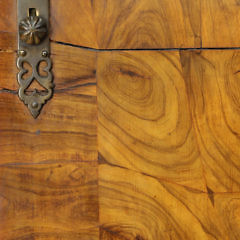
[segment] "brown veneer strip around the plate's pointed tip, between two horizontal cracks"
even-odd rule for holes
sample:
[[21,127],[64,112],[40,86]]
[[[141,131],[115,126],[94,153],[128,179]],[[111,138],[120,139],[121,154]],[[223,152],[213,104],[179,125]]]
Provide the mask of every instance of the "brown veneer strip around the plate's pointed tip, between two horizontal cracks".
[[0,93],[0,164],[96,161],[96,99],[55,94],[37,120],[11,93]]

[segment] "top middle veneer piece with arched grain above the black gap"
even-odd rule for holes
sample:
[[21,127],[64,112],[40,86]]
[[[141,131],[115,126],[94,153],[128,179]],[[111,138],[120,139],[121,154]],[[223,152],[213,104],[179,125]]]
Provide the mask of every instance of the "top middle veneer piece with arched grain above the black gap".
[[200,47],[200,1],[94,1],[99,48]]

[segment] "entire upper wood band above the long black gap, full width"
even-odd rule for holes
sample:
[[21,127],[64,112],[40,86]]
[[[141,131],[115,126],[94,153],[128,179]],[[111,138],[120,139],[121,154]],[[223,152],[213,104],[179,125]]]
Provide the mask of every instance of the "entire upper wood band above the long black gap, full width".
[[[50,7],[52,41],[95,49],[240,46],[237,0],[51,0]],[[16,1],[0,9],[0,33],[16,36]]]

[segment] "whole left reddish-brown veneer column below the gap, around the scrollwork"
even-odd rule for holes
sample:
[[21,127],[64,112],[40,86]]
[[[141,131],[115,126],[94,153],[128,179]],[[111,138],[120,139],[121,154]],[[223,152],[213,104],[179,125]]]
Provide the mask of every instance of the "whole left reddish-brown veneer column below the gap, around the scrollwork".
[[37,119],[15,58],[0,52],[0,240],[97,240],[96,53],[52,44],[56,90]]

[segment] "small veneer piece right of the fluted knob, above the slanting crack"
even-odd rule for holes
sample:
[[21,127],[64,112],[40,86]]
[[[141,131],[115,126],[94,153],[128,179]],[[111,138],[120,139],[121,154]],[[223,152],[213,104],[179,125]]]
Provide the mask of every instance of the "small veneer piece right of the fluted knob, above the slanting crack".
[[51,39],[98,48],[92,0],[51,0]]

